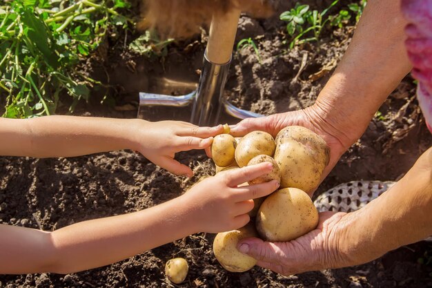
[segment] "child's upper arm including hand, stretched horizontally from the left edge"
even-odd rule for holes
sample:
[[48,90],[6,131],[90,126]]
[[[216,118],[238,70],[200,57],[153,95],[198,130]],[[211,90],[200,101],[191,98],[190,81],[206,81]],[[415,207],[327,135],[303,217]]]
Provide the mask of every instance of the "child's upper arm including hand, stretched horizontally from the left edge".
[[0,118],[0,155],[72,157],[131,149],[177,175],[192,176],[173,160],[179,151],[206,148],[223,127],[197,127],[186,122],[148,122],[77,116],[32,119]]

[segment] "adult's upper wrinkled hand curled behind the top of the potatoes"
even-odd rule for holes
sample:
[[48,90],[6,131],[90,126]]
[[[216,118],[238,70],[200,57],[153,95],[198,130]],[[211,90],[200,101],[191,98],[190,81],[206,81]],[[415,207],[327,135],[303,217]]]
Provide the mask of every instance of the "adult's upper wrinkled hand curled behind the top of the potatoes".
[[[259,118],[247,118],[231,128],[233,136],[244,136],[255,130],[266,131],[276,137],[277,133],[286,126],[298,125],[311,129],[311,131],[320,135],[330,147],[330,162],[322,175],[322,180],[330,173],[337,160],[351,146],[348,140],[345,140],[340,131],[336,131],[333,125],[324,122],[316,108],[308,107],[300,111],[275,114]],[[206,150],[207,155],[210,153]]]

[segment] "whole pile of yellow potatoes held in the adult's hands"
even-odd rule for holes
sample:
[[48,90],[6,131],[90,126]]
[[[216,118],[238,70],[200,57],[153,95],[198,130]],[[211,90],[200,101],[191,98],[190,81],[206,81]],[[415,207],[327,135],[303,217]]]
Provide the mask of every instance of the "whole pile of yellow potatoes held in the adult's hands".
[[271,180],[280,183],[279,189],[271,195],[254,200],[249,224],[215,237],[213,251],[222,267],[243,272],[257,261],[237,251],[239,240],[259,237],[285,242],[315,229],[318,212],[307,193],[320,184],[330,159],[330,149],[322,137],[302,126],[287,126],[279,131],[276,139],[264,131],[253,131],[242,138],[228,133],[217,135],[211,146],[216,173],[271,162],[270,173],[246,184]]

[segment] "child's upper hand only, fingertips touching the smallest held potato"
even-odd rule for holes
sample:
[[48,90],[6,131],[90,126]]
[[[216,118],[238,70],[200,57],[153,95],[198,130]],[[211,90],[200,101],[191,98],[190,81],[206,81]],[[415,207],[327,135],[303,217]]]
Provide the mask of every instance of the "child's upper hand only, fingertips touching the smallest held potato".
[[[143,126],[145,124],[145,126]],[[192,170],[174,160],[175,153],[192,149],[204,149],[213,141],[213,136],[224,131],[222,125],[199,127],[187,122],[161,121],[137,122],[138,143],[136,149],[157,166],[176,175],[193,176]]]

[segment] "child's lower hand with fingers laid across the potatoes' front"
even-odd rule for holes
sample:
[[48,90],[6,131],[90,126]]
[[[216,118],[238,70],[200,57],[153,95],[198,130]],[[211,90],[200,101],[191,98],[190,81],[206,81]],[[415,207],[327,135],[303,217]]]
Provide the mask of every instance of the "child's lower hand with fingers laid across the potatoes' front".
[[250,218],[253,200],[264,197],[279,187],[276,180],[262,184],[238,186],[273,169],[265,162],[241,169],[218,173],[199,182],[181,197],[193,211],[200,232],[218,233],[243,227]]

